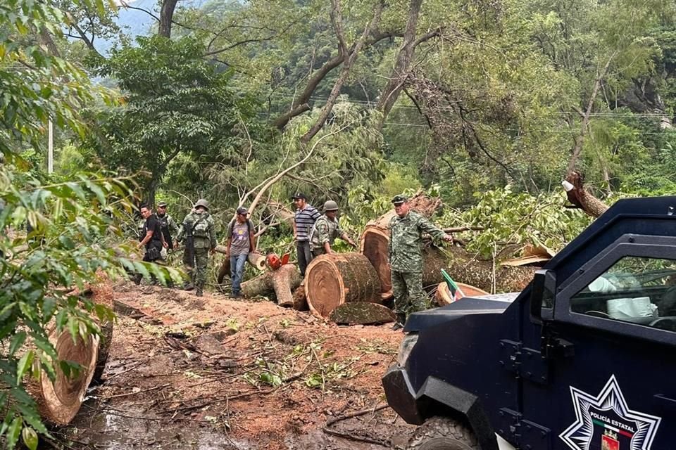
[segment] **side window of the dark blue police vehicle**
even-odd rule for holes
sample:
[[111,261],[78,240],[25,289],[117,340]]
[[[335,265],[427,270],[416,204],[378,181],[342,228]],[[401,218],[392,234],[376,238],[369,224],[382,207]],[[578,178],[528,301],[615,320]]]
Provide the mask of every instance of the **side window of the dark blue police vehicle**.
[[676,331],[676,261],[623,257],[570,298],[570,311]]

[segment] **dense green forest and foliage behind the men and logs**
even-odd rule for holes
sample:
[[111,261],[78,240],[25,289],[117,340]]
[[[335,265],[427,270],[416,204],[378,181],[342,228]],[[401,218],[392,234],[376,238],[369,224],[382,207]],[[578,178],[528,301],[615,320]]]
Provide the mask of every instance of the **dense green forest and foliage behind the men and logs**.
[[[152,24],[138,36],[130,11]],[[244,205],[259,247],[281,251],[296,192],[337,201],[356,236],[423,189],[443,200],[435,221],[475,228],[459,236],[480,257],[559,250],[595,215],[589,199],[676,192],[675,117],[670,0],[4,1],[0,229],[37,232],[0,242],[24,255],[2,265],[21,274],[0,294],[3,383],[23,399],[35,354],[15,352],[32,339],[49,354],[55,311],[96,329],[47,286],[123,274],[141,201],[180,220],[206,198],[219,238]],[[30,425],[35,448],[46,430],[13,411],[0,435],[13,445]]]

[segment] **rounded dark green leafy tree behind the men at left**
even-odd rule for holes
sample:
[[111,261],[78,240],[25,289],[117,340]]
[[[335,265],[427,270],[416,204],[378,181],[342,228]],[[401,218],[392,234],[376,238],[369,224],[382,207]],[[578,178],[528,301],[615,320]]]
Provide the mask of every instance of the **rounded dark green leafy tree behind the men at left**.
[[209,161],[232,153],[233,128],[251,102],[228,88],[230,72],[202,58],[199,40],[139,37],[111,52],[99,75],[118,81],[125,105],[101,113],[99,158],[108,167],[144,169],[149,199],[178,155]]

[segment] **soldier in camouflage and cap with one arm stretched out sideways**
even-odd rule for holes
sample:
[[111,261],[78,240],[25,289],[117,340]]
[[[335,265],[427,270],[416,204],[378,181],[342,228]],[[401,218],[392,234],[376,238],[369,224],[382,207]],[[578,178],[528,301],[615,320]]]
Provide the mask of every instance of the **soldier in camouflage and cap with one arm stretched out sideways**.
[[406,316],[425,309],[423,293],[423,233],[437,240],[453,241],[430,221],[408,208],[408,198],[395,195],[392,199],[396,215],[389,221],[388,257],[392,269],[392,293],[397,323],[403,327]]

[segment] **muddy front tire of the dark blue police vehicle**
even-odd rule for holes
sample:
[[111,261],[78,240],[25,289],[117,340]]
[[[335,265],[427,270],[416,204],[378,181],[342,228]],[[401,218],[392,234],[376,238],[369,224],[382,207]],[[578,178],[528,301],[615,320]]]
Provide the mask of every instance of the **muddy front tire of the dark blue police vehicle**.
[[480,450],[472,430],[451,418],[433,417],[420,425],[406,450]]

